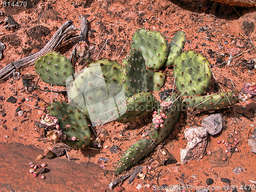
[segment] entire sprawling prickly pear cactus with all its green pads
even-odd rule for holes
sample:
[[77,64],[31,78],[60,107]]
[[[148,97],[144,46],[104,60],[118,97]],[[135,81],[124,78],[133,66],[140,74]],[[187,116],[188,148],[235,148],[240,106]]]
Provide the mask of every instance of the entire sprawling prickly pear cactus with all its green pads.
[[[49,128],[49,140],[63,141],[73,148],[83,148],[90,143],[88,121],[93,126],[117,120],[135,121],[154,111],[150,134],[133,144],[121,157],[116,174],[138,163],[168,137],[179,121],[182,105],[208,111],[227,108],[238,102],[237,93],[204,94],[211,70],[205,57],[194,51],[183,51],[185,33],[178,32],[167,43],[162,33],[139,29],[131,41],[131,51],[122,65],[102,59],[90,63],[74,74],[66,57],[50,52],[35,62],[36,73],[50,84],[66,86],[69,102],[55,101],[49,106],[42,122]],[[86,61],[86,45],[80,43],[77,51]],[[178,92],[164,101],[157,101],[152,91],[164,84],[163,67],[174,66],[174,79]],[[68,83],[65,83],[67,82]]]

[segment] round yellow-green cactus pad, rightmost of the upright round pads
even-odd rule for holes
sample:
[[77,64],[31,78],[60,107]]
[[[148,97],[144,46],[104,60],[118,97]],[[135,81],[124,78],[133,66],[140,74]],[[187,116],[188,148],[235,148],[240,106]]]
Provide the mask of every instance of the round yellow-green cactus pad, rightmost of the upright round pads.
[[175,84],[183,95],[202,94],[211,78],[210,63],[194,51],[182,52],[174,61]]

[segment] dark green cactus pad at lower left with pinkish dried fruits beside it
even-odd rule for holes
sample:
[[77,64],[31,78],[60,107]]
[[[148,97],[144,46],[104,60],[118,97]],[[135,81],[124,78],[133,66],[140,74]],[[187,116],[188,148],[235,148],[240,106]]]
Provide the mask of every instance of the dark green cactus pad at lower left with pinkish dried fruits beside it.
[[60,129],[67,138],[64,143],[72,148],[84,148],[90,143],[91,132],[85,115],[68,103],[55,101],[47,108],[57,117]]

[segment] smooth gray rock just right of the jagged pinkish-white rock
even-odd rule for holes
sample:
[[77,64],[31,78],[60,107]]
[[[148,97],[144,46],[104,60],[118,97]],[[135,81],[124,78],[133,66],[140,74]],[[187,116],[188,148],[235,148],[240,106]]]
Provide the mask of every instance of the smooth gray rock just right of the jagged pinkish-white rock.
[[210,115],[202,120],[202,126],[208,129],[210,135],[216,135],[221,132],[223,127],[223,118],[220,113]]

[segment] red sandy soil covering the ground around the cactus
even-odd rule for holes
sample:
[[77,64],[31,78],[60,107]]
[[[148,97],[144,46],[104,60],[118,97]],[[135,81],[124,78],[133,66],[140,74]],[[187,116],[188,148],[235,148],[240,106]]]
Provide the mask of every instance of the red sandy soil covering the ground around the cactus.
[[[52,7],[59,14],[58,17],[56,15],[54,17],[55,13],[48,13],[48,15],[45,14],[45,17],[41,16],[38,19],[39,14],[47,12],[48,7]],[[5,12],[3,6],[0,8]],[[231,7],[211,1],[89,0],[83,2],[47,0],[39,2],[35,8],[13,15],[13,18],[20,25],[17,31],[8,31],[3,27],[3,23],[1,24],[0,39],[8,34],[16,34],[21,40],[20,45],[16,46],[3,42],[6,49],[3,51],[4,58],[0,61],[0,65],[3,68],[12,61],[28,56],[29,53],[37,52],[45,46],[56,30],[69,19],[73,21],[75,27],[79,28],[79,16],[88,14],[89,27],[96,31],[94,36],[89,37],[90,45],[96,47],[95,52],[94,50],[92,52],[93,59],[112,58],[121,63],[124,56],[129,52],[130,40],[134,32],[136,29],[145,27],[150,30],[158,30],[164,33],[166,37],[173,37],[178,30],[184,31],[187,39],[184,50],[194,50],[202,53],[211,65],[215,66],[218,65],[218,63],[216,64],[217,57],[222,57],[223,61],[229,58],[227,49],[239,49],[242,53],[255,46],[255,27],[251,28],[251,25],[248,26],[245,23],[250,24],[252,22],[255,26],[255,10],[255,8]],[[5,16],[1,16],[0,20],[4,18]],[[26,34],[29,29],[38,25],[49,28],[50,34],[37,39],[33,39]],[[200,27],[206,27],[208,34],[206,31],[199,32]],[[107,46],[100,52],[106,39],[108,39]],[[125,45],[127,40],[128,42]],[[203,44],[205,46],[202,46]],[[72,46],[58,51],[69,57]],[[214,56],[211,57],[212,54]],[[232,59],[229,67],[224,65],[212,68],[217,82],[212,78],[210,87],[219,84],[221,89],[230,90],[233,89],[233,83],[236,89],[240,90],[245,82],[255,82],[255,69],[248,72],[248,69],[241,65],[244,60],[252,59],[255,59],[255,49]],[[77,63],[76,69],[80,68],[81,66]],[[163,70],[163,73],[166,76],[166,82],[161,91],[172,89],[173,68],[169,67]],[[20,71],[20,75],[36,75],[36,73],[33,66],[28,66]],[[37,79],[38,76],[35,76],[34,81],[37,81]],[[38,84],[47,86],[41,80]],[[158,93],[154,94],[158,96]],[[14,96],[16,99],[27,98],[29,100],[26,100],[25,103],[35,105],[36,97],[39,97],[50,103],[51,93],[38,90],[26,91],[22,78],[19,78],[19,80],[10,78],[1,83],[0,96],[4,98],[3,101],[0,101],[1,110],[7,114],[5,117],[0,117],[0,123],[2,124],[0,126],[0,187],[2,191],[112,191],[108,188],[108,185],[116,179],[114,176],[116,162],[130,145],[142,138],[141,134],[150,129],[151,125],[152,114],[133,123],[109,122],[102,127],[110,133],[111,137],[104,140],[103,147],[100,150],[68,150],[70,161],[67,156],[36,160],[39,154],[45,156],[54,146],[45,139],[44,129],[39,129],[35,125],[36,121],[40,120],[41,113],[31,106],[21,104],[22,111],[30,112],[26,113],[26,117],[15,116],[18,104],[6,102],[6,100],[10,96]],[[53,93],[53,97],[56,100],[66,100],[65,96],[57,93]],[[39,106],[44,107],[44,102],[39,102]],[[242,109],[242,107],[244,108]],[[211,186],[217,187],[227,185],[221,181],[221,178],[228,178],[231,180],[230,186],[238,186],[238,191],[242,191],[240,189],[242,185],[253,185],[249,180],[256,181],[256,156],[250,152],[248,146],[248,139],[254,129],[253,126],[256,124],[255,114],[249,111],[252,107],[256,107],[255,102],[248,100],[248,103],[240,101],[228,109],[218,111],[224,116],[224,129],[217,136],[208,136],[209,146],[207,151],[214,151],[213,148],[218,147],[222,147],[224,150],[224,145],[217,144],[217,141],[228,140],[228,136],[230,134],[235,135],[234,131],[237,131],[237,137],[240,141],[237,145],[239,152],[232,154],[232,156],[227,155],[226,162],[228,165],[226,164],[224,167],[214,166],[210,163],[211,158],[207,155],[201,161],[193,160],[182,165],[175,163],[158,166],[158,161],[155,160],[148,164],[153,167],[152,170],[148,170],[152,177],[147,174],[145,180],[135,178],[132,184],[124,181],[121,183],[124,191],[153,191],[152,187],[147,188],[145,184],[156,185],[157,181],[160,186],[162,184],[177,185],[181,184],[182,181],[186,185],[206,187],[205,181],[208,178],[214,180],[214,184]],[[186,146],[183,135],[185,127],[201,126],[202,118],[208,115],[209,113],[192,114],[191,111],[182,114],[181,120],[174,127],[172,135],[163,143],[178,162],[180,160],[180,148]],[[25,119],[28,120],[24,121]],[[15,127],[16,131],[13,130]],[[100,137],[103,137],[103,134]],[[109,147],[105,148],[106,145]],[[112,154],[109,148],[113,145],[119,146],[121,151]],[[91,157],[90,163],[88,163],[89,157]],[[98,160],[99,157],[110,160],[104,163]],[[151,154],[147,160],[153,157],[154,154]],[[33,177],[29,173],[30,161],[36,164],[47,164],[50,172],[42,174],[46,176],[45,180]],[[223,164],[221,158],[217,158],[216,161]],[[104,165],[104,167],[101,168],[100,165]],[[237,166],[242,166],[245,169],[240,175],[232,172],[232,169]],[[144,174],[146,174],[145,167],[146,165],[142,170]],[[196,175],[196,177],[193,175]],[[138,184],[142,185],[139,190],[136,189]],[[116,191],[116,189],[113,189],[113,191]],[[192,190],[188,189],[186,191]],[[216,189],[215,191],[220,190]]]

